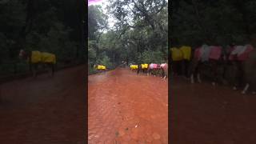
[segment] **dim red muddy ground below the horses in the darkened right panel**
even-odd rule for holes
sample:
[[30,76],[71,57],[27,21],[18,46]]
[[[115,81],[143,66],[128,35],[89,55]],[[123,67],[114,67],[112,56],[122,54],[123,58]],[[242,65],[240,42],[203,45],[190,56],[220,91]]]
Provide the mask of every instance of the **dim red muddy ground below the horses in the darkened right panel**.
[[252,144],[256,142],[256,95],[229,86],[170,81],[170,142]]

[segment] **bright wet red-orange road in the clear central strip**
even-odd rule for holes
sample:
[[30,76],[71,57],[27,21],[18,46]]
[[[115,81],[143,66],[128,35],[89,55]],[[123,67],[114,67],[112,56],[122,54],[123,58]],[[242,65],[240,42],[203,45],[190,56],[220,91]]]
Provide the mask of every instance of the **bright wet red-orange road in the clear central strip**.
[[88,140],[168,143],[168,82],[126,68],[88,79]]

